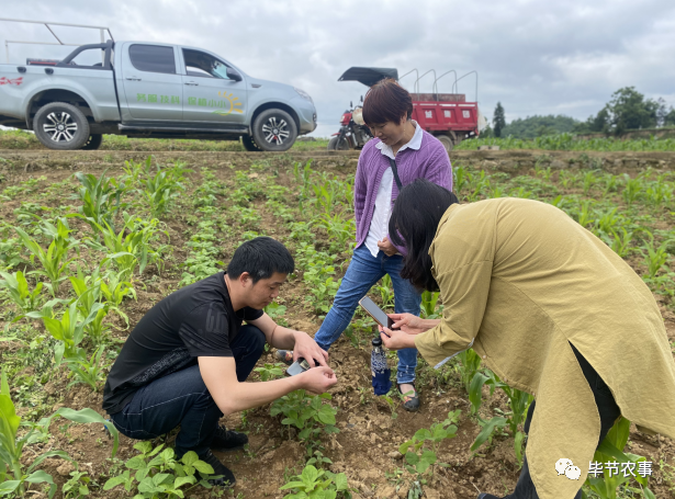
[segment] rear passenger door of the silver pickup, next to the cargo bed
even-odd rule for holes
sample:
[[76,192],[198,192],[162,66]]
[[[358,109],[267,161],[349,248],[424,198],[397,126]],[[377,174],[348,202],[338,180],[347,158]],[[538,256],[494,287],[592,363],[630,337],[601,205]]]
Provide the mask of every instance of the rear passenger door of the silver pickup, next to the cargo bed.
[[182,121],[182,80],[171,45],[125,44],[122,55],[124,97],[139,121]]

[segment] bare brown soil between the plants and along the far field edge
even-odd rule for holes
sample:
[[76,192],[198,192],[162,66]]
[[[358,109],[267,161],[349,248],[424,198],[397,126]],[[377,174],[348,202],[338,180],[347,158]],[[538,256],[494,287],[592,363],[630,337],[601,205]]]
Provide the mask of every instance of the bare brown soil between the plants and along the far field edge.
[[[76,171],[91,172],[99,175],[108,170],[109,175],[122,173],[121,166],[125,160],[144,160],[148,152],[133,151],[46,151],[46,150],[0,150],[0,190],[11,185],[18,185],[27,179],[40,179],[35,192],[44,192],[48,185],[68,179]],[[340,178],[353,174],[358,154],[356,152],[324,152],[312,151],[293,155],[272,154],[246,154],[246,152],[157,152],[155,159],[160,163],[183,161],[189,168],[195,170],[191,173],[191,180],[199,184],[200,168],[209,167],[214,170],[218,179],[232,183],[236,170],[249,169],[252,161],[256,163],[269,163],[268,171],[278,171],[277,183],[295,189],[295,180],[292,167],[295,161],[302,165],[314,159],[314,170],[327,171]],[[556,154],[552,151],[455,151],[452,154],[453,161],[472,165],[476,168],[484,167],[487,170],[507,171],[509,173],[525,174],[542,156],[552,158],[549,165],[552,168],[570,165],[570,159],[578,159],[580,152]],[[601,154],[588,152],[588,157],[599,157],[599,165],[617,173],[620,171],[637,172],[641,165],[652,165],[675,169],[675,152],[644,152],[644,154]],[[620,161],[620,165],[618,163]],[[574,165],[574,163],[573,163]],[[545,166],[545,165],[544,165]],[[492,168],[491,168],[492,167]],[[561,167],[562,168],[562,167]],[[31,193],[22,194],[14,200],[2,202],[0,217],[3,220],[13,220],[13,211],[22,201],[34,201]],[[185,196],[187,199],[189,197]],[[64,201],[64,197],[47,196],[40,203],[50,207],[59,204],[74,203],[77,201]],[[187,204],[182,205],[184,208]],[[275,234],[281,238],[288,236],[283,224],[273,213],[269,213],[263,202],[256,202],[257,209],[262,214],[259,231],[261,234]],[[167,269],[158,274],[154,268],[148,268],[144,274],[145,287],[137,285],[137,300],[127,300],[124,311],[128,315],[132,327],[138,319],[161,297],[177,287],[180,281],[178,264],[184,260],[187,248],[184,243],[193,233],[194,226],[188,223],[185,213],[181,206],[173,211],[164,222],[167,224],[173,254],[167,261]],[[178,213],[177,213],[178,212]],[[77,230],[87,230],[86,224],[71,224]],[[667,227],[667,225],[666,225]],[[670,227],[672,228],[672,227]],[[325,236],[324,236],[325,237]],[[230,237],[224,241],[220,258],[224,261],[232,256],[237,246],[238,238]],[[318,243],[322,243],[322,235],[318,235]],[[87,261],[88,253],[82,258]],[[632,263],[632,262],[631,262]],[[635,262],[637,266],[638,263]],[[303,299],[307,290],[300,279],[292,280],[283,290],[280,299],[288,307],[285,315],[288,324],[292,328],[302,329],[314,333],[319,325],[312,308]],[[662,305],[662,311],[671,341],[675,340],[675,315],[666,307],[664,298],[655,295]],[[0,320],[0,328],[5,324]],[[42,328],[34,322],[36,328]],[[116,326],[123,327],[117,322]],[[128,330],[113,329],[113,333],[121,341]],[[15,352],[21,345],[14,342],[0,342],[0,359],[4,354]],[[427,376],[419,378],[418,388],[421,397],[421,408],[418,412],[410,413],[401,406],[394,408],[396,418],[392,417],[392,409],[382,399],[372,394],[369,349],[365,341],[358,348],[342,337],[330,350],[330,363],[335,368],[340,382],[330,390],[333,404],[339,408],[337,415],[337,428],[340,432],[325,439],[325,454],[333,461],[330,469],[345,472],[349,484],[353,489],[355,498],[395,498],[407,497],[409,475],[404,473],[402,478],[396,479],[394,472],[403,469],[398,445],[412,438],[420,428],[428,428],[434,421],[445,420],[448,411],[461,409],[462,416],[457,438],[441,444],[438,458],[447,463],[449,467],[438,467],[434,477],[425,487],[428,498],[475,498],[480,491],[502,497],[507,491],[513,491],[519,475],[513,450],[511,436],[496,436],[492,445],[484,445],[476,454],[470,451],[471,443],[480,432],[476,419],[469,416],[468,396],[457,379],[451,378],[448,383],[439,383]],[[273,363],[272,353],[263,356],[260,365],[265,362]],[[420,363],[424,365],[424,362]],[[30,367],[27,367],[30,368]],[[428,367],[423,370],[429,371]],[[24,373],[26,374],[26,373]],[[40,396],[49,405],[52,410],[59,407],[81,409],[90,407],[103,415],[101,410],[101,394],[92,392],[83,385],[66,388],[68,379],[66,371],[60,370],[40,387]],[[486,400],[486,401],[485,401]],[[483,418],[491,417],[493,409],[507,409],[504,395],[496,393],[492,398],[485,393],[484,404],[481,408]],[[20,415],[27,415],[29,408],[19,408]],[[50,412],[49,412],[50,413]],[[27,417],[27,416],[26,416]],[[32,453],[41,454],[47,450],[60,449],[67,451],[79,463],[80,470],[87,470],[100,485],[108,477],[123,470],[121,461],[124,462],[135,455],[132,449],[134,441],[121,436],[120,451],[115,460],[110,460],[111,443],[103,429],[94,424],[66,426],[64,419],[55,419],[50,426],[52,436],[43,444],[27,447],[26,460],[31,460]],[[282,428],[280,418],[273,418],[269,413],[269,406],[248,411],[245,417],[235,415],[225,418],[224,423],[232,429],[245,430],[249,433],[250,444],[246,451],[237,451],[228,454],[217,454],[223,462],[233,469],[237,476],[237,486],[234,496],[240,494],[244,498],[282,498],[279,487],[283,485],[290,475],[299,473],[306,461],[305,449],[292,439],[285,428]],[[171,443],[175,432],[167,436]],[[164,440],[160,440],[164,441]],[[159,442],[159,441],[158,441]],[[654,476],[650,480],[650,487],[659,498],[675,498],[675,477],[671,473],[664,473],[659,463],[661,461],[675,465],[675,443],[662,436],[649,436],[631,428],[630,452],[645,455],[648,461],[654,463]],[[121,460],[121,461],[120,461]],[[55,479],[63,484],[68,479],[71,466],[58,458],[49,458],[42,467],[52,473]],[[262,472],[262,473],[261,473]],[[671,472],[673,469],[671,468]],[[203,489],[194,489],[191,497],[210,497],[210,492]],[[41,494],[34,494],[41,496]],[[46,497],[46,496],[45,496]],[[103,492],[92,487],[92,497],[121,498],[125,494],[117,487],[113,491]]]

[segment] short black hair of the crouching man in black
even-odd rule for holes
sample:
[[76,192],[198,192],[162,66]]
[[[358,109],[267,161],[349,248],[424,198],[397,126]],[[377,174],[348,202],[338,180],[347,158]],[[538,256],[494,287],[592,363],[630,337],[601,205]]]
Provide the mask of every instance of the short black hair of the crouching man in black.
[[248,272],[256,284],[261,279],[270,279],[274,272],[290,274],[294,269],[293,257],[285,246],[271,237],[257,237],[237,248],[227,265],[227,275],[237,279]]

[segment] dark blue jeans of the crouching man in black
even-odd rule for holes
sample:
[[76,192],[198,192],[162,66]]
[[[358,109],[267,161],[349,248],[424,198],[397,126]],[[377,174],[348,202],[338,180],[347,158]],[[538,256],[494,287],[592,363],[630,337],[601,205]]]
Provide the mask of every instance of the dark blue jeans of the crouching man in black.
[[[246,381],[265,350],[265,334],[255,326],[243,326],[230,344],[237,363],[237,379]],[[203,456],[223,412],[200,374],[199,365],[162,376],[134,394],[120,412],[111,415],[115,428],[131,439],[149,440],[180,424],[176,454],[194,451]]]

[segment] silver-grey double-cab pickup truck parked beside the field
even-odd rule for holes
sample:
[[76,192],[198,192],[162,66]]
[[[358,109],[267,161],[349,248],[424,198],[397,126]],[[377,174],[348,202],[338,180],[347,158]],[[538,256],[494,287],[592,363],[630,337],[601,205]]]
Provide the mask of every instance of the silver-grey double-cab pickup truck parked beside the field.
[[32,129],[50,149],[95,149],[102,134],[116,134],[241,137],[248,150],[283,151],[316,128],[306,92],[201,48],[109,41],[26,63],[0,65],[0,125]]

